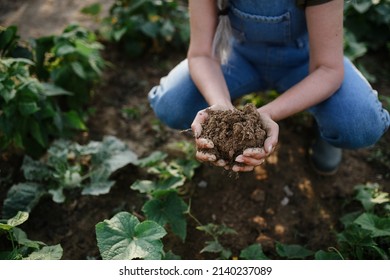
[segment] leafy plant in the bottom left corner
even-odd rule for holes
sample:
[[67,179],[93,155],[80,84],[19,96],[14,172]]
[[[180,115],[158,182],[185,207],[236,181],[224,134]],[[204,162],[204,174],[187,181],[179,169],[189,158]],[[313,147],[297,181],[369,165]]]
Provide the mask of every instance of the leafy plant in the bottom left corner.
[[18,226],[28,219],[27,212],[18,212],[8,220],[0,220],[1,260],[59,260],[61,245],[47,246],[41,241],[32,241]]

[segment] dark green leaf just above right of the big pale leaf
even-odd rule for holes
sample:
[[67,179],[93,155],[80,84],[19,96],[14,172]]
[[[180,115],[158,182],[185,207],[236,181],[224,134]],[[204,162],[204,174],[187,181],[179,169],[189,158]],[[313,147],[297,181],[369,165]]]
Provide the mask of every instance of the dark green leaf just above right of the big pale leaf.
[[184,213],[187,209],[188,206],[183,199],[176,192],[171,191],[146,202],[142,211],[148,219],[161,226],[169,224],[172,231],[184,241],[187,234],[187,221]]

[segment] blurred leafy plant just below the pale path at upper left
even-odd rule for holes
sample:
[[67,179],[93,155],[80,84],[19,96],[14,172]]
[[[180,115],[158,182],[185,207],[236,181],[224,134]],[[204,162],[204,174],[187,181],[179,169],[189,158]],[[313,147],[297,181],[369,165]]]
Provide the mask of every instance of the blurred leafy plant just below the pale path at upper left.
[[82,120],[106,66],[100,54],[103,45],[92,31],[77,24],[70,24],[60,35],[37,38],[33,44],[38,79],[72,92],[61,105],[74,110]]

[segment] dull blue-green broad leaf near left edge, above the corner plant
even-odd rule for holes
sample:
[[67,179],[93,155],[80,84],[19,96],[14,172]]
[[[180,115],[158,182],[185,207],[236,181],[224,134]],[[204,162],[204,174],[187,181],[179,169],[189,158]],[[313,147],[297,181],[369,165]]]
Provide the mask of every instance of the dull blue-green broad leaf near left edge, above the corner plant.
[[11,218],[19,211],[30,212],[44,194],[40,184],[26,182],[13,185],[4,200],[3,217]]

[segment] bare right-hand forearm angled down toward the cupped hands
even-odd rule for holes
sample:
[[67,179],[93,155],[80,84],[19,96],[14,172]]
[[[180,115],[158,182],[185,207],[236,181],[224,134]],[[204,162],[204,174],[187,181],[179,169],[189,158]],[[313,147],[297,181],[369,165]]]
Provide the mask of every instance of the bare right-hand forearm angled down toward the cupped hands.
[[302,112],[329,98],[340,87],[343,69],[319,67],[278,98],[258,109],[274,121]]

